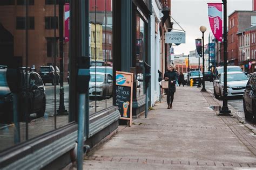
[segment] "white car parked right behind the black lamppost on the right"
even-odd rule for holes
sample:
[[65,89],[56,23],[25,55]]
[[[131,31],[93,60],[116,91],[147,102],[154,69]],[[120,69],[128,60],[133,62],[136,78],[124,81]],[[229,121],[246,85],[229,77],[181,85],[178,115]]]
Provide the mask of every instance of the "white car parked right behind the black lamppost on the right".
[[[247,76],[243,72],[227,72],[227,96],[241,96],[247,83]],[[224,73],[218,74],[213,81],[215,98],[223,97]]]

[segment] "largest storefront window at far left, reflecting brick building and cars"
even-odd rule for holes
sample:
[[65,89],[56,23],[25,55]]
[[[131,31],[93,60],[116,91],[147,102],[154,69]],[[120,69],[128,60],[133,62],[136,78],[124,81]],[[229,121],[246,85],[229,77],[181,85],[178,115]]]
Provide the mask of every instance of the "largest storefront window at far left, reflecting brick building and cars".
[[68,11],[57,0],[0,5],[0,152],[69,123]]

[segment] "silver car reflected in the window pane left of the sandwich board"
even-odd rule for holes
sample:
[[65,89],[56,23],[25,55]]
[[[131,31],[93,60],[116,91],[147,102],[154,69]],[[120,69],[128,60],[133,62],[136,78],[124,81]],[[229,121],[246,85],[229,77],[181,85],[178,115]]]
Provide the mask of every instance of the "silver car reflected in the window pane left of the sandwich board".
[[113,77],[109,73],[90,72],[89,96],[101,98],[111,97],[113,91]]

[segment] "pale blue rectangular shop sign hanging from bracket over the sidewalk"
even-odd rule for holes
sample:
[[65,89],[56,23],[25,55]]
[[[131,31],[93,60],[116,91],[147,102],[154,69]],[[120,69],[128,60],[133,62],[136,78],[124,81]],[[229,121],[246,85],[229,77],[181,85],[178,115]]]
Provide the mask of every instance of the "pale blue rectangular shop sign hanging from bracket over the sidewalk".
[[166,44],[181,44],[186,43],[186,33],[185,32],[166,32],[165,33],[165,43]]

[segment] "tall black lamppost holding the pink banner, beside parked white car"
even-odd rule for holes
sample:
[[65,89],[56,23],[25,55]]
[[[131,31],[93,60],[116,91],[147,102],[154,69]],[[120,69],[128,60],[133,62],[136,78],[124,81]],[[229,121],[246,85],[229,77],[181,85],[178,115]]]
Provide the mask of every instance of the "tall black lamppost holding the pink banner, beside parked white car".
[[223,89],[223,107],[219,115],[230,115],[231,111],[227,106],[227,0],[222,0],[224,8],[224,89]]

